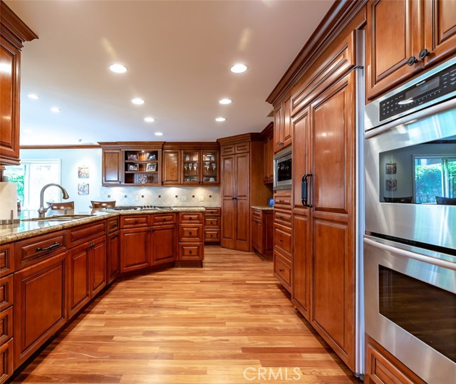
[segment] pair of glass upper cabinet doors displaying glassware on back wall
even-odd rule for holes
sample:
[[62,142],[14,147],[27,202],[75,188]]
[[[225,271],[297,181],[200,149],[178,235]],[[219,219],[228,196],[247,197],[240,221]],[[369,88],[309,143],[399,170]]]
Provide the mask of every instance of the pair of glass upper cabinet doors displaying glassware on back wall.
[[218,150],[182,150],[182,184],[219,184]]

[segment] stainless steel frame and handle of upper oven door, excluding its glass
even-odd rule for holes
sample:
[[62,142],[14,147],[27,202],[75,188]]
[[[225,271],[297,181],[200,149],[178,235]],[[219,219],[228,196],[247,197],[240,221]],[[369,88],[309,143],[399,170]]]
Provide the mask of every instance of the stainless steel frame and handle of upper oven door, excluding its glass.
[[[440,111],[432,113],[432,109]],[[450,109],[448,109],[450,108]],[[422,118],[421,116],[425,116]],[[427,108],[408,121],[390,123],[366,133],[366,231],[456,249],[456,207],[440,204],[400,204],[383,201],[380,154],[456,135],[456,99]],[[456,156],[456,144],[452,147]],[[411,160],[410,160],[411,161]],[[381,201],[380,201],[381,200]]]

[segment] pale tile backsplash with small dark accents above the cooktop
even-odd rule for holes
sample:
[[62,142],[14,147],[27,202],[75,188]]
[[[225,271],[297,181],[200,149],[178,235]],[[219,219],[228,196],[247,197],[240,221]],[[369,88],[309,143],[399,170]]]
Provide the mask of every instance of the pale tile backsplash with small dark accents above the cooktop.
[[101,187],[100,197],[116,205],[219,207],[220,187]]

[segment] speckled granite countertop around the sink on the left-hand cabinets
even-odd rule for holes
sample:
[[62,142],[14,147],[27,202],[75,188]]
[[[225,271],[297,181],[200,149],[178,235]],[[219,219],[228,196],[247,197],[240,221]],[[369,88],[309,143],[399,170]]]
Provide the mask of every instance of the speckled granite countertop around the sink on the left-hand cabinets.
[[[21,221],[17,224],[4,224],[0,225],[0,244],[15,242],[21,239],[38,236],[40,234],[47,234],[50,232],[60,231],[76,227],[76,225],[88,224],[97,222],[108,217],[116,217],[125,214],[151,214],[151,213],[170,213],[170,212],[204,212],[204,207],[172,207],[167,209],[141,209],[141,210],[123,210],[115,211],[113,209],[100,209],[90,211],[73,211],[68,210],[66,214],[72,215],[85,215],[75,219],[58,221],[56,216],[65,216],[60,211],[48,211],[46,218],[48,220],[33,220],[38,217],[36,211],[22,211],[19,219]],[[28,221],[28,219],[31,219]]]

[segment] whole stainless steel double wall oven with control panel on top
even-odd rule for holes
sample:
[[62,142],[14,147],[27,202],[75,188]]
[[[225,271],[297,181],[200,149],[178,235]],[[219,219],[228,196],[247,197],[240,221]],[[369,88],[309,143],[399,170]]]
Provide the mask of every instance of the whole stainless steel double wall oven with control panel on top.
[[456,377],[456,58],[366,105],[366,333]]

